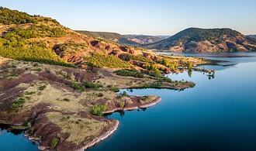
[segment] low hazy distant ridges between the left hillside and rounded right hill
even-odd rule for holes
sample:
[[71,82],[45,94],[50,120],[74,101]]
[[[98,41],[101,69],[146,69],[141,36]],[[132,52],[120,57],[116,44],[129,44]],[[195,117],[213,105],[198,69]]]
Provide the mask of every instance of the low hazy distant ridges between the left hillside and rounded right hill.
[[114,42],[130,45],[130,46],[140,46],[141,44],[155,43],[161,39],[166,39],[169,36],[147,36],[147,35],[121,35],[119,33],[109,33],[109,32],[92,32],[77,30],[78,33],[83,33],[87,36],[92,36],[95,38],[109,39]]

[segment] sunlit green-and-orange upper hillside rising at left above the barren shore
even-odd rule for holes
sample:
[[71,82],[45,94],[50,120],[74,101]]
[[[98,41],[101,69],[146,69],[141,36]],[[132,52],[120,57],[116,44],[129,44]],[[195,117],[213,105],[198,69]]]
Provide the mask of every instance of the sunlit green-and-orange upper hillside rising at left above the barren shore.
[[[0,55],[16,60],[32,60],[66,66],[81,66],[92,53],[119,56],[148,52],[121,46],[106,39],[85,36],[61,26],[55,19],[0,8]],[[115,58],[118,65],[124,63]]]

